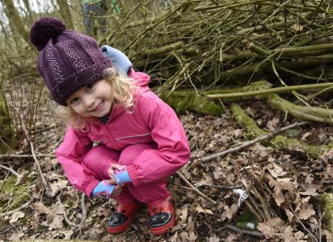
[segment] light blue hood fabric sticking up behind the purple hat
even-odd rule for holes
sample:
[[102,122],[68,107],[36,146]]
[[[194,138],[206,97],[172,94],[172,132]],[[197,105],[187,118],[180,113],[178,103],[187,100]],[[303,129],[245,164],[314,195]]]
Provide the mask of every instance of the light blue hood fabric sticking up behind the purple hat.
[[132,63],[124,53],[110,46],[102,46],[101,51],[106,57],[111,59],[114,66],[119,67],[124,74],[128,74],[132,68]]

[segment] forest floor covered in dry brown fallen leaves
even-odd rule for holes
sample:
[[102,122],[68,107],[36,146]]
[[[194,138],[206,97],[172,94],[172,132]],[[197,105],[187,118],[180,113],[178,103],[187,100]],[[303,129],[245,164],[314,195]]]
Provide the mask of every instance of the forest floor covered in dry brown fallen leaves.
[[[31,136],[36,154],[54,155],[65,134],[65,124],[56,118],[56,106],[49,101],[44,90],[38,109],[35,131]],[[45,93],[45,95],[44,95]],[[228,104],[225,104],[228,109]],[[284,120],[284,113],[270,109],[264,102],[241,103],[243,109],[257,122],[259,127],[273,131],[296,122],[290,116]],[[220,117],[202,116],[195,113],[181,115],[191,147],[191,161],[213,153],[236,147],[248,141],[246,131],[237,124],[227,110]],[[59,125],[58,125],[59,124]],[[47,127],[56,128],[42,131]],[[311,123],[311,126],[293,129],[286,136],[292,136],[311,145],[325,145],[332,142],[333,127],[327,124]],[[28,143],[19,143],[16,154],[31,153]],[[22,210],[2,216],[0,241],[35,239],[84,239],[95,241],[328,241],[328,234],[321,194],[328,192],[333,183],[332,153],[323,153],[320,159],[311,160],[297,150],[264,147],[257,143],[244,151],[230,153],[210,162],[185,166],[181,172],[200,192],[216,201],[216,205],[198,196],[178,174],[169,178],[169,190],[176,210],[176,226],[162,236],[153,236],[148,230],[148,212],[139,212],[132,226],[123,234],[112,235],[105,230],[108,216],[114,211],[116,202],[101,198],[85,198],[87,210],[85,225],[81,230],[68,225],[63,212],[71,223],[80,224],[83,218],[81,194],[71,187],[62,167],[54,157],[38,156],[46,182],[51,187],[51,198],[44,196],[40,176],[33,158],[6,158],[1,164],[13,167],[22,174],[21,185],[6,189],[10,172],[1,170],[0,213],[6,212],[15,200],[13,192],[23,187],[23,201],[9,210],[27,203]],[[265,174],[264,180],[255,184],[260,196],[253,194],[253,201],[259,210],[268,210],[272,218],[259,223],[257,229],[265,239],[240,234],[226,228],[235,225],[239,216],[248,207],[243,205],[237,214],[232,210],[238,198],[232,196],[232,189],[200,187],[200,183],[227,185],[225,177],[235,185],[249,184],[253,178],[246,171],[253,171],[257,178]],[[15,177],[15,176],[14,176]],[[257,194],[258,195],[258,194]],[[23,195],[22,195],[23,196]],[[264,206],[258,198],[264,200]],[[1,199],[0,199],[1,201]],[[30,202],[29,202],[30,201]],[[261,207],[261,208],[260,208]]]

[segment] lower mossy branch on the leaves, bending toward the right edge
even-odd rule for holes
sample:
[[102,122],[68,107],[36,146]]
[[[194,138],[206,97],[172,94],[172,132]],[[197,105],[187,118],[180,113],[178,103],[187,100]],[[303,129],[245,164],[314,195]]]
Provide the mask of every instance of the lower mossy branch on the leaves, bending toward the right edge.
[[[256,122],[246,115],[238,104],[230,104],[230,109],[237,122],[246,129],[246,136],[248,138],[253,139],[268,133],[260,129]],[[307,155],[313,159],[318,159],[323,151],[333,149],[333,144],[325,146],[307,145],[300,140],[287,138],[281,135],[275,136],[274,138],[271,138],[271,140],[264,140],[262,143],[270,147],[302,151],[307,153]]]

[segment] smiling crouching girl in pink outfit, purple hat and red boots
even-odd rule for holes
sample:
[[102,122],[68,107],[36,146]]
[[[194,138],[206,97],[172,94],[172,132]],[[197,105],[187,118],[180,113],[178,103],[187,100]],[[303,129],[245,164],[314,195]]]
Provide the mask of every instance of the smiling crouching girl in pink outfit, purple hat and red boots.
[[126,230],[142,203],[151,232],[167,232],[175,215],[164,178],[190,155],[176,113],[119,50],[103,46],[103,55],[94,39],[52,17],[36,21],[30,37],[38,71],[69,120],[56,156],[71,185],[88,197],[117,198],[110,233]]

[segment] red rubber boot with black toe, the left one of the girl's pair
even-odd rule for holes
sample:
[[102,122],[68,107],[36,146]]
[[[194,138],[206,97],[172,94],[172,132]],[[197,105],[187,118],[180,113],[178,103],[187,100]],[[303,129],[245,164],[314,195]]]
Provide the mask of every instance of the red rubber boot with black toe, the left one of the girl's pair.
[[119,204],[116,212],[108,218],[107,229],[110,234],[119,234],[126,230],[139,211],[141,204],[138,201]]

